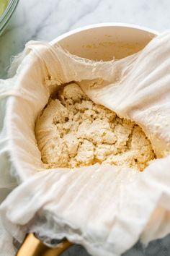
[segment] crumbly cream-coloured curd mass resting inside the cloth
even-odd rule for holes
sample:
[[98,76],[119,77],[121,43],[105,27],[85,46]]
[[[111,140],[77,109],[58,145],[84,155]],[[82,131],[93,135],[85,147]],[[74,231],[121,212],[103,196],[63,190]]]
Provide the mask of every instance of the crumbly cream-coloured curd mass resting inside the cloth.
[[91,101],[76,83],[62,86],[58,97],[50,98],[35,134],[48,168],[101,163],[143,171],[155,158],[137,124]]

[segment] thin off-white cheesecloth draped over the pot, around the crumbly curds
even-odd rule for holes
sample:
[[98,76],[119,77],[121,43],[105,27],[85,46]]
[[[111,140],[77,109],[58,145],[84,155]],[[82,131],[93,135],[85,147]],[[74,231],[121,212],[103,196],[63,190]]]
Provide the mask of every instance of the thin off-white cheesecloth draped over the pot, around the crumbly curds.
[[[83,244],[91,255],[121,255],[138,239],[148,243],[170,232],[170,33],[121,60],[89,61],[58,45],[31,41],[14,59],[1,136],[12,172],[1,182],[19,186],[1,205],[4,226],[19,242],[27,231]],[[135,121],[160,159],[140,173],[119,166],[45,169],[35,121],[53,90],[76,81],[96,103]],[[4,115],[3,115],[4,116]],[[1,118],[3,118],[1,116]],[[4,171],[5,170],[5,171]],[[12,173],[12,174],[11,174]],[[6,178],[7,177],[7,178]]]

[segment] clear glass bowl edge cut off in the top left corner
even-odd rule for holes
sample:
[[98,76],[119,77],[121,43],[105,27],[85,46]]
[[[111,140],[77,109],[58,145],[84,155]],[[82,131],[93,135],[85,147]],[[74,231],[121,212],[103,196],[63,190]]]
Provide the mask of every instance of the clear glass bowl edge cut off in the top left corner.
[[17,7],[19,0],[9,0],[6,9],[0,16],[0,35],[4,31],[7,23],[9,22],[10,17],[14,12],[14,9]]

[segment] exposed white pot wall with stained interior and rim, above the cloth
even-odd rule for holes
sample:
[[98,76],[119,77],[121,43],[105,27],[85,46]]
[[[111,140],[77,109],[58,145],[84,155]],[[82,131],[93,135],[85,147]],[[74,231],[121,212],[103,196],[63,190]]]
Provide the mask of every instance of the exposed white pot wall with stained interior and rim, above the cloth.
[[134,54],[156,35],[155,30],[137,25],[101,23],[73,30],[51,43],[86,59],[110,60]]

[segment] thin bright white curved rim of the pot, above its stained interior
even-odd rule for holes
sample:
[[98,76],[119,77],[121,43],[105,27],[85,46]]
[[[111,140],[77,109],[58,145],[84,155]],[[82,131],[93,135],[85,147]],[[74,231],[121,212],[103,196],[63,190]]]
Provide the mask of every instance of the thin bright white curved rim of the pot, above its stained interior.
[[63,33],[62,35],[59,35],[57,38],[50,41],[51,44],[58,43],[60,40],[63,40],[64,38],[69,37],[70,35],[79,33],[84,30],[90,30],[91,28],[98,28],[98,27],[127,27],[127,28],[134,28],[136,30],[145,31],[148,33],[152,33],[154,35],[159,35],[158,31],[153,30],[149,27],[143,27],[140,25],[130,24],[130,23],[122,23],[122,22],[104,22],[104,23],[97,23],[92,25],[86,25],[83,27],[78,27],[74,30],[71,30],[69,32]]

